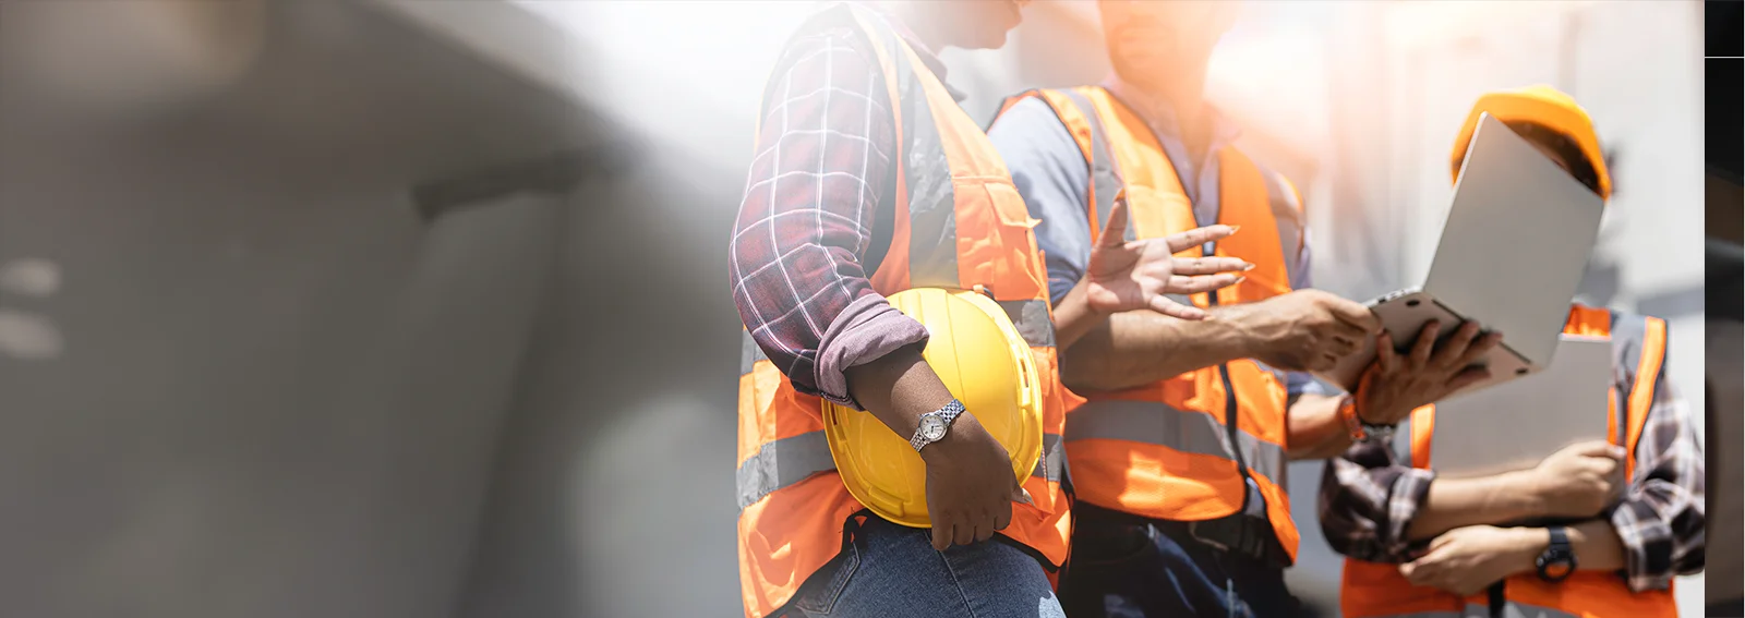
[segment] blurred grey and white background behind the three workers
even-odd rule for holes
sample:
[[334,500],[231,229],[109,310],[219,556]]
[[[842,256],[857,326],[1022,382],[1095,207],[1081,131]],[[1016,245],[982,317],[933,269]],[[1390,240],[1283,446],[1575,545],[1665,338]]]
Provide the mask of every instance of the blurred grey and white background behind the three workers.
[[[0,615],[735,616],[726,243],[806,2],[0,3]],[[1211,96],[1316,279],[1413,283],[1485,89],[1618,155],[1583,297],[1701,409],[1696,2],[1249,2]],[[1106,72],[1094,3],[948,52]],[[1291,468],[1314,531],[1319,464]],[[1305,534],[1293,585],[1335,615]],[[1703,580],[1679,581],[1687,616]]]

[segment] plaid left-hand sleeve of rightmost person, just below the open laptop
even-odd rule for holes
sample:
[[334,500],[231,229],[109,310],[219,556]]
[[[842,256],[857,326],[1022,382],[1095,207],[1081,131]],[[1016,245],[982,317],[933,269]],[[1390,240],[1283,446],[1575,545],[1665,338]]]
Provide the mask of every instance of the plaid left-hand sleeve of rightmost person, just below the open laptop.
[[1406,562],[1406,527],[1417,517],[1434,471],[1412,468],[1393,449],[1359,442],[1328,459],[1321,475],[1321,534],[1333,552],[1366,562]]

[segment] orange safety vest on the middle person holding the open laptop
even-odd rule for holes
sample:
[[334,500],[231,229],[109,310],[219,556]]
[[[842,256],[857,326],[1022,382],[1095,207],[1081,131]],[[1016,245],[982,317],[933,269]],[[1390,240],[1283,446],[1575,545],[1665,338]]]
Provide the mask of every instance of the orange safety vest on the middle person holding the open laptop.
[[[1159,237],[1199,227],[1174,166],[1152,129],[1103,87],[1030,91],[1024,98],[1054,108],[1091,168],[1091,234],[1101,229],[1115,192],[1126,187],[1129,239]],[[1241,257],[1255,269],[1241,285],[1197,293],[1194,306],[1256,302],[1291,292],[1300,230],[1281,227],[1277,208],[1298,209],[1297,189],[1281,175],[1262,173],[1234,147],[1218,152],[1218,223],[1241,225],[1215,255]],[[1297,220],[1297,213],[1283,213]],[[1279,230],[1269,234],[1267,230]],[[1204,255],[1202,248],[1187,251]],[[1066,457],[1077,499],[1150,518],[1197,522],[1248,508],[1244,478],[1253,478],[1274,536],[1297,560],[1297,524],[1284,492],[1284,374],[1253,360],[1181,374],[1120,393],[1085,395],[1066,414]]]

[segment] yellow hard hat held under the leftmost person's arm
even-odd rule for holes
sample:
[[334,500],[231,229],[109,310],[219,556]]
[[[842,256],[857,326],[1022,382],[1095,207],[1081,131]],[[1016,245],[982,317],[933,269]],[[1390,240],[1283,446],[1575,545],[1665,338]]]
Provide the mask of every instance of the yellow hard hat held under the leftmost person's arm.
[[[963,409],[1012,456],[1023,482],[1042,457],[1042,381],[1030,344],[1005,309],[970,290],[914,288],[890,304],[930,333],[921,358]],[[824,435],[848,492],[872,513],[909,527],[928,527],[927,464],[867,412],[824,402]]]

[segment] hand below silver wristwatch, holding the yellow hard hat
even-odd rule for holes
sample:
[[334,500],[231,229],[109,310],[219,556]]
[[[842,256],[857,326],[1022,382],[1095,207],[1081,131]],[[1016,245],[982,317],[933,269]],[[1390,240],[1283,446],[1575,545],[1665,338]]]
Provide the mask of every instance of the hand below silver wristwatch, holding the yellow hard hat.
[[1030,505],[1012,457],[970,412],[960,414],[942,440],[921,447],[921,461],[935,550],[986,541],[1012,522],[1014,501]]

